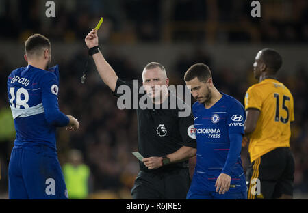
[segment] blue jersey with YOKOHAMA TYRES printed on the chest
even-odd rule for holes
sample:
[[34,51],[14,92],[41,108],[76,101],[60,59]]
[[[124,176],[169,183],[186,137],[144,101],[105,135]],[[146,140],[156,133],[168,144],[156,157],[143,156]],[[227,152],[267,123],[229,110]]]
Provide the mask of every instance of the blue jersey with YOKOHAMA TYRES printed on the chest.
[[[196,132],[196,178],[205,180],[208,190],[215,190],[214,184],[222,173],[230,148],[229,134],[244,134],[246,119],[244,107],[238,100],[222,94],[211,108],[205,109],[204,104],[195,102],[192,106],[194,128]],[[236,143],[242,143],[237,141]],[[246,181],[241,156],[231,170],[230,191],[246,190]],[[236,186],[236,187],[235,187]]]

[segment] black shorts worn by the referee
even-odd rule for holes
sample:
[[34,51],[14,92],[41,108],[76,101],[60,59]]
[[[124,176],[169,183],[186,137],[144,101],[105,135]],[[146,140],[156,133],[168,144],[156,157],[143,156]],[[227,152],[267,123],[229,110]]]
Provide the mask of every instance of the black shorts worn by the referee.
[[133,199],[186,199],[189,188],[188,168],[140,171],[131,195]]

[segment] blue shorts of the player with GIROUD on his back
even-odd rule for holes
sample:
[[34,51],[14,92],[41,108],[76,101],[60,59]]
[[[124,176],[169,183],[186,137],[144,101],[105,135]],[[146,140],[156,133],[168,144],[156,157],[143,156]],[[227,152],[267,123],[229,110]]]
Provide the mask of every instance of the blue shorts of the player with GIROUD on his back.
[[68,199],[55,150],[15,146],[9,164],[9,199]]

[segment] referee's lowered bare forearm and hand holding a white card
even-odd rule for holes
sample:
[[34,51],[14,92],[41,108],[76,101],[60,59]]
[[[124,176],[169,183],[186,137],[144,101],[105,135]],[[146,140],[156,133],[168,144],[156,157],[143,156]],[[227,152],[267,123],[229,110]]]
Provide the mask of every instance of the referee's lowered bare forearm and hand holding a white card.
[[[167,155],[167,158],[170,159],[170,163],[176,163],[184,160],[188,160],[189,158],[196,155],[196,149],[192,147],[183,146],[177,150],[177,152],[173,152],[171,154]],[[148,167],[148,169],[157,169],[159,167],[163,166],[162,163],[163,158],[153,156],[149,158],[144,158],[142,162],[144,162],[144,165]]]

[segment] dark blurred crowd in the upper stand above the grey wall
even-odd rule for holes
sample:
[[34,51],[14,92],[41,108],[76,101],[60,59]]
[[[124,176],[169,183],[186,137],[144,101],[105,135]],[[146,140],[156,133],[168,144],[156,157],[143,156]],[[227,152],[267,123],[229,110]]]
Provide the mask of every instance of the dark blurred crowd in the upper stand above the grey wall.
[[[0,0],[1,37],[24,40],[40,32],[53,40],[84,38],[104,18],[101,37],[112,42],[308,42],[308,2],[268,0],[261,18],[251,16],[252,1],[224,0]],[[60,21],[59,21],[60,20]]]

